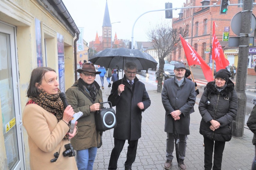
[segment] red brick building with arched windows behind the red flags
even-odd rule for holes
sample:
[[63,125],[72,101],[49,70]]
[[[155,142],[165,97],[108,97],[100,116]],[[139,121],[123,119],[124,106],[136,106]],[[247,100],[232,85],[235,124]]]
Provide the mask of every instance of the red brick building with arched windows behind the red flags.
[[[221,1],[210,0],[187,0],[183,4],[184,7],[192,6],[207,6],[217,3],[220,5]],[[242,0],[232,1],[233,3],[242,3]],[[228,6],[227,15],[219,14],[220,7],[200,7],[200,8],[187,8],[181,9],[178,18],[172,19],[173,28],[185,28],[189,30],[188,35],[182,35],[184,39],[197,51],[197,53],[206,61],[210,62],[210,55],[212,49],[212,29],[213,21],[215,21],[215,34],[222,46],[228,47],[228,41],[222,41],[223,32],[229,32],[229,37],[235,37],[230,23],[232,17],[242,11],[242,6]],[[255,14],[255,8],[253,8]],[[229,49],[229,48],[228,48]],[[238,49],[238,48],[237,48]],[[236,51],[237,52],[237,51]],[[231,54],[231,55],[229,55]],[[229,60],[230,64],[234,63],[237,66],[238,55],[236,53],[225,53],[225,57]],[[238,52],[237,52],[238,54]],[[187,62],[182,46],[176,47],[176,50],[171,55],[172,60],[183,60]]]

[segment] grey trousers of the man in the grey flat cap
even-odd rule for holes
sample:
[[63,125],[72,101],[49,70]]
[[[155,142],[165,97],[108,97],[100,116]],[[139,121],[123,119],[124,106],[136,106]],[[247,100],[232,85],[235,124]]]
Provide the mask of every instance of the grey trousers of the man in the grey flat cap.
[[[181,135],[178,134],[179,137],[179,158],[184,159],[185,158],[185,153],[186,153],[186,139],[187,135]],[[174,151],[174,136],[173,133],[168,133],[167,132],[167,139],[166,139],[166,159],[172,160],[173,159],[173,151]],[[175,152],[175,151],[174,151]],[[176,153],[175,153],[176,155]]]

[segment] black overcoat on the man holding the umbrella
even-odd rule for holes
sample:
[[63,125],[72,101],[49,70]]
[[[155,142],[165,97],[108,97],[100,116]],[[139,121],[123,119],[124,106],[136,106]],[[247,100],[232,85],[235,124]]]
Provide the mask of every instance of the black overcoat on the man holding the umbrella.
[[[114,138],[120,140],[137,140],[141,137],[141,121],[142,112],[151,104],[146,91],[145,84],[139,81],[137,77],[134,79],[133,87],[127,82],[126,76],[123,76],[124,91],[118,95],[118,86],[122,83],[122,79],[113,83],[111,94],[108,101],[112,106],[116,106],[117,127],[114,128]],[[143,102],[144,110],[140,110],[137,103]]]

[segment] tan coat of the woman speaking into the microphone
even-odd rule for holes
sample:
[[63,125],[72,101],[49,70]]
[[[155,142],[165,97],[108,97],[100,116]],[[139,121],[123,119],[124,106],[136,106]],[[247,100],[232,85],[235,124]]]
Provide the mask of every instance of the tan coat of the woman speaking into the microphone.
[[[36,104],[26,105],[23,111],[23,126],[26,128],[29,142],[30,168],[45,169],[77,169],[75,157],[64,157],[65,144],[62,140],[69,131],[64,121],[59,121],[52,113]],[[59,153],[56,162],[50,162]]]

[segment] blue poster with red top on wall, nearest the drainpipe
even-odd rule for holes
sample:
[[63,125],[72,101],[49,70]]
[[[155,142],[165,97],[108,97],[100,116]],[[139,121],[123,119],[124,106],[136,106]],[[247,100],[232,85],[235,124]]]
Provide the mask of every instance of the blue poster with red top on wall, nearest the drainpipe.
[[64,63],[64,42],[63,35],[57,33],[58,45],[58,70],[59,70],[59,90],[65,93],[65,63]]

